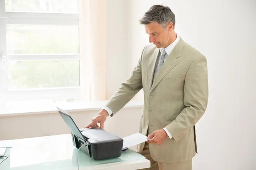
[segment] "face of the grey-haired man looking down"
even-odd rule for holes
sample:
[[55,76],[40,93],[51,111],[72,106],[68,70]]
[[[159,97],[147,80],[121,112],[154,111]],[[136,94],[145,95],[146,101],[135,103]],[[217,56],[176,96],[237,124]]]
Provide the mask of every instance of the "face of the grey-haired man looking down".
[[149,42],[157,48],[166,48],[169,44],[169,29],[163,28],[157,21],[145,25],[145,32],[148,34]]

